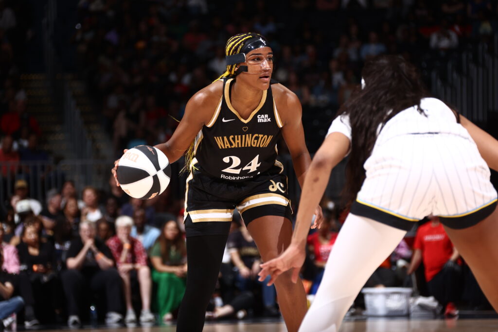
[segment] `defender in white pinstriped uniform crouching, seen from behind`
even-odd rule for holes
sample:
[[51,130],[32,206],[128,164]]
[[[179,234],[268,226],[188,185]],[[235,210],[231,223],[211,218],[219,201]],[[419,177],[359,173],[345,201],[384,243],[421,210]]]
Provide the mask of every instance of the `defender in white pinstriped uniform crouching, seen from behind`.
[[[260,280],[304,261],[307,224],[330,172],[348,153],[351,213],[330,253],[299,329],[338,331],[353,300],[414,222],[439,216],[495,310],[498,309],[498,141],[429,98],[415,68],[396,56],[368,61],[357,90],[332,122],[307,172],[292,242],[262,264]],[[483,160],[484,158],[484,160]]]

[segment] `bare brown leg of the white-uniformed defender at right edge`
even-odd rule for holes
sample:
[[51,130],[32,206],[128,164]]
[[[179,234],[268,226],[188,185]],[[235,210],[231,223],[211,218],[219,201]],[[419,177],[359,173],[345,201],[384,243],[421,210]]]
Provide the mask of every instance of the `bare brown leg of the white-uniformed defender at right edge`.
[[[449,223],[448,223],[449,224]],[[444,226],[458,252],[469,264],[491,305],[498,312],[498,208],[474,226],[453,229]]]

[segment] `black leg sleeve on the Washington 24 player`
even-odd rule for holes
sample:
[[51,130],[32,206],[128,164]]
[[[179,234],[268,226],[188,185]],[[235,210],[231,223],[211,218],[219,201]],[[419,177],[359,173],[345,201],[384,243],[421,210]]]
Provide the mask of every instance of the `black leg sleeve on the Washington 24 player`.
[[176,331],[202,331],[227,238],[228,235],[187,237],[187,288],[178,312]]

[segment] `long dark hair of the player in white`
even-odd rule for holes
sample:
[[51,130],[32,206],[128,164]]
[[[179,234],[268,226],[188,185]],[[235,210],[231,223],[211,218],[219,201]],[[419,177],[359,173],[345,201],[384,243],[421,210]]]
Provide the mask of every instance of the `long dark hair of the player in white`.
[[382,55],[366,61],[362,76],[364,89],[358,87],[339,110],[340,115],[349,115],[352,133],[343,189],[348,208],[356,200],[365,180],[363,165],[372,153],[377,128],[414,105],[424,114],[420,100],[430,97],[416,68],[399,56]]

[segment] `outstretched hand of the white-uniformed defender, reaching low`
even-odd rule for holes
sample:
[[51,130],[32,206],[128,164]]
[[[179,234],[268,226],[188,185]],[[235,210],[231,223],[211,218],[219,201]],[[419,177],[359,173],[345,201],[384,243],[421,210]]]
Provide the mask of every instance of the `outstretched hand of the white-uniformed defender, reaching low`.
[[293,269],[292,282],[296,283],[301,266],[303,266],[305,256],[304,247],[299,249],[296,245],[289,245],[289,247],[280,256],[261,264],[261,271],[258,273],[258,280],[263,281],[269,275],[271,278],[267,285],[271,286],[280,274],[289,269]]

